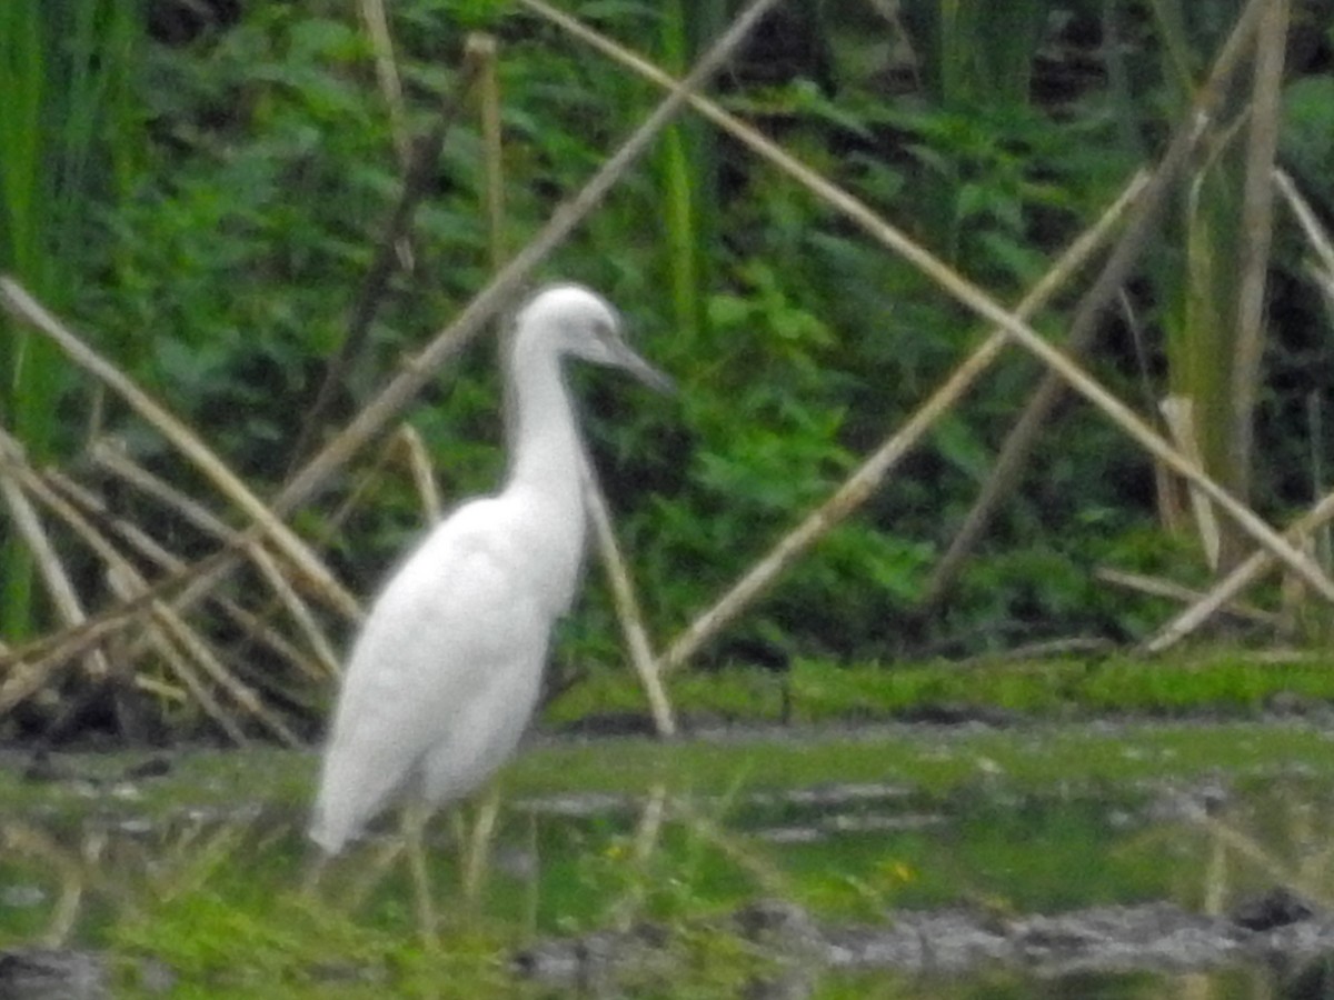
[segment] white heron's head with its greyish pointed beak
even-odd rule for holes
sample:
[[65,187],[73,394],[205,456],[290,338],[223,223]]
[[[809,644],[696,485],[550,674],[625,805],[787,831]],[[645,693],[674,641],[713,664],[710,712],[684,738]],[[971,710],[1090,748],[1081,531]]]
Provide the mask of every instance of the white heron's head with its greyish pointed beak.
[[626,343],[620,316],[611,304],[583,285],[543,288],[519,311],[516,327],[520,332],[540,329],[540,336],[552,339],[562,355],[622,368],[655,389],[668,391],[672,387],[671,379]]

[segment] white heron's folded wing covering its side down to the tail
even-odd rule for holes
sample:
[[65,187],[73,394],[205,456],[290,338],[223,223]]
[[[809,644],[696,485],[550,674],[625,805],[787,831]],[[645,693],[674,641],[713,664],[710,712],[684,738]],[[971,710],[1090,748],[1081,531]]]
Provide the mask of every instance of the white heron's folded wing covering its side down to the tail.
[[491,692],[516,675],[531,676],[536,691],[550,621],[504,513],[494,499],[459,508],[376,599],[325,751],[312,836],[328,849],[354,836],[451,733],[512,727],[510,713],[520,711],[519,728],[527,721],[531,703],[496,701]]

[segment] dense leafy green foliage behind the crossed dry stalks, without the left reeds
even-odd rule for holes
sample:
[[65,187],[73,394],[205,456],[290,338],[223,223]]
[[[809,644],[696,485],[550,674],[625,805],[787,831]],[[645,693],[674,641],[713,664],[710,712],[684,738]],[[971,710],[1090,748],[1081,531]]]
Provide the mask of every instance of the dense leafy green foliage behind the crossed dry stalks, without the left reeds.
[[[735,9],[707,7],[712,23]],[[904,3],[891,20],[874,4],[794,4],[719,89],[803,160],[1014,301],[1158,152],[1241,4],[1189,5],[1179,23],[1167,16],[1185,9],[1174,4],[1126,5],[1121,45],[1101,45],[1105,7],[1118,5]],[[666,65],[684,65],[704,43],[670,4],[571,9],[634,45],[650,40]],[[400,168],[371,43],[347,4],[253,0],[243,12],[216,11],[188,31],[159,19],[137,40],[125,67],[133,100],[116,105],[107,133],[95,136],[101,145],[89,144],[99,163],[116,167],[115,196],[95,192],[88,232],[60,245],[77,275],[60,301],[100,349],[272,492],[289,468],[297,415],[346,333]],[[498,36],[510,247],[658,99],[508,4],[404,0],[390,12],[414,132],[456,85],[466,32]],[[1327,3],[1302,5],[1294,21],[1283,135],[1294,171],[1326,207],[1334,199],[1318,164],[1330,127],[1330,104],[1319,100],[1331,80],[1329,23]],[[644,353],[682,384],[678,399],[659,400],[579,376],[592,449],[663,639],[827,497],[982,333],[808,192],[684,123],[544,269],[604,291]],[[113,156],[112,125],[143,139]],[[479,127],[466,116],[418,213],[414,265],[395,279],[342,385],[335,425],[482,287],[488,248]],[[1178,323],[1181,304],[1162,279],[1174,261],[1167,241],[1154,251],[1153,280],[1130,289],[1147,343],[1137,349],[1129,329],[1110,324],[1094,363],[1142,409],[1170,381],[1162,331]],[[15,247],[0,263],[31,277]],[[1302,469],[1329,451],[1327,435],[1311,440],[1306,421],[1291,417],[1334,367],[1334,349],[1295,239],[1281,247],[1274,281],[1283,300],[1271,309],[1271,365],[1281,377],[1262,397],[1261,433],[1262,453],[1277,461],[1259,469],[1258,503],[1278,516],[1307,500]],[[1070,301],[1039,328],[1059,336]],[[1007,356],[930,447],[704,659],[891,659],[1070,633],[1121,640],[1161,621],[1165,604],[1110,592],[1091,569],[1111,563],[1201,579],[1194,543],[1157,529],[1149,460],[1089,411],[1069,408],[944,616],[907,627],[934,556],[1038,375],[1017,352]],[[91,403],[87,388],[68,388],[60,407],[84,413]],[[491,348],[471,349],[410,419],[447,499],[490,488],[502,465]],[[113,407],[104,420],[180,477],[133,420]],[[63,424],[59,453],[77,452],[83,425]],[[324,539],[321,516],[304,513],[301,527]],[[364,592],[418,523],[407,477],[387,477],[324,540]],[[563,659],[618,656],[610,600],[599,581],[591,589]]]

